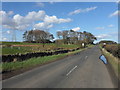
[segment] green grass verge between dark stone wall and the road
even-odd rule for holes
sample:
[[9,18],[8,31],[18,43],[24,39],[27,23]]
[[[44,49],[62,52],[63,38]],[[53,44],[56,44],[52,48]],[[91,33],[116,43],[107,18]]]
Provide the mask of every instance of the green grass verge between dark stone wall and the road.
[[71,54],[75,54],[78,53],[84,49],[80,49],[80,50],[76,50],[73,52],[69,52],[69,53],[64,53],[64,54],[58,54],[58,55],[52,55],[52,56],[45,56],[45,57],[38,57],[38,58],[31,58],[22,62],[6,62],[2,64],[2,71],[13,71],[13,70],[19,70],[22,68],[29,68],[29,67],[33,67],[33,66],[37,66],[37,65],[42,65],[51,61],[55,61],[61,58],[64,58],[67,55],[71,55]]

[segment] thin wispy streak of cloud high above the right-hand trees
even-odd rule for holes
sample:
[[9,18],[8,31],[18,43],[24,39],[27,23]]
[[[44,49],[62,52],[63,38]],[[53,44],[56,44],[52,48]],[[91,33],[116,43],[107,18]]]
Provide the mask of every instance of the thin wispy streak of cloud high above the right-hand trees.
[[90,8],[85,8],[85,9],[77,9],[72,12],[70,12],[68,15],[74,15],[74,14],[79,14],[79,13],[84,13],[84,12],[89,12],[92,10],[95,10],[97,7],[90,7]]

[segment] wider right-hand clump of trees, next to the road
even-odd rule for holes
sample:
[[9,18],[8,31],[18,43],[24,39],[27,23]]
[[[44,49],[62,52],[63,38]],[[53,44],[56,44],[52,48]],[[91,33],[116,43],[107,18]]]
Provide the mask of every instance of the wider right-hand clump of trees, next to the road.
[[[93,44],[97,38],[90,32],[76,32],[74,30],[58,31],[57,36],[64,44]],[[58,40],[58,41],[59,41]],[[57,42],[58,42],[57,41]]]

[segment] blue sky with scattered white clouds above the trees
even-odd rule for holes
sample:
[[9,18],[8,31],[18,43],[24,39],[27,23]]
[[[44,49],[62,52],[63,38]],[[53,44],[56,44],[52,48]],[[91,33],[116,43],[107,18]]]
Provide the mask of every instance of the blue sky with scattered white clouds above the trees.
[[117,2],[3,2],[2,41],[23,41],[27,30],[40,29],[52,33],[73,29],[87,31],[97,41],[118,42]]

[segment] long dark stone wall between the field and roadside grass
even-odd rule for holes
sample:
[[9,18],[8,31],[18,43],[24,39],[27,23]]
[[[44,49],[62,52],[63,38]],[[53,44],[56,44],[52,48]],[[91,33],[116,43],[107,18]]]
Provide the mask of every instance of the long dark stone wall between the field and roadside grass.
[[53,52],[34,52],[34,53],[27,53],[27,54],[2,55],[2,62],[24,61],[33,57],[57,55],[62,53],[68,53],[78,49],[79,48],[71,49],[71,50],[59,50],[59,51],[53,51]]

